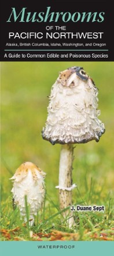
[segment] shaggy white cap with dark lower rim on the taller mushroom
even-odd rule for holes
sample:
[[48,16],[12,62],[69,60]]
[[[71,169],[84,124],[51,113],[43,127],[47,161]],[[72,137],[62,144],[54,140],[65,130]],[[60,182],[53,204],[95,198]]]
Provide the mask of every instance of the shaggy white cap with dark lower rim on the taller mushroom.
[[98,119],[98,88],[83,67],[60,72],[52,86],[42,137],[53,145],[99,141],[105,131]]

